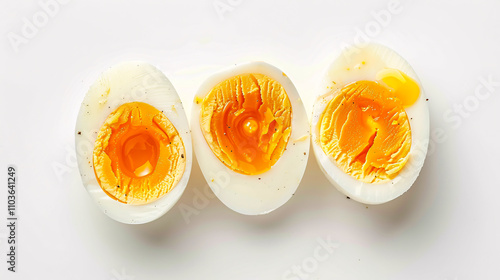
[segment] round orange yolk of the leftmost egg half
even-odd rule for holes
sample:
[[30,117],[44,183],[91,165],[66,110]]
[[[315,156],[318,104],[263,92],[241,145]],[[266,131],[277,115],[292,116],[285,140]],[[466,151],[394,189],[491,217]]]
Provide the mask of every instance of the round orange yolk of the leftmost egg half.
[[101,188],[127,204],[146,204],[175,187],[184,173],[184,144],[170,120],[146,103],[109,114],[94,147]]

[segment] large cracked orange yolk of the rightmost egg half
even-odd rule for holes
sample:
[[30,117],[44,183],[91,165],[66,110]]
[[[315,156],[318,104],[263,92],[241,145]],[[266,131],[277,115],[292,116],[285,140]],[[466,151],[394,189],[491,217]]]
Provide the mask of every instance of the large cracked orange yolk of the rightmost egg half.
[[411,129],[402,102],[376,82],[342,88],[328,103],[319,125],[323,151],[360,181],[388,181],[408,161]]

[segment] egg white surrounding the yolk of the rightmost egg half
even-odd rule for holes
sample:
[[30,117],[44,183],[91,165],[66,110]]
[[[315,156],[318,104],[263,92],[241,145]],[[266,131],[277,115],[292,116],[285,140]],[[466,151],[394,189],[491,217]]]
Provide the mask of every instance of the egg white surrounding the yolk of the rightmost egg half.
[[[366,64],[363,64],[363,61]],[[405,108],[410,122],[412,140],[408,162],[391,181],[370,184],[344,173],[337,166],[335,159],[324,153],[319,141],[318,122],[328,102],[338,95],[341,88],[356,81],[375,81],[377,72],[384,68],[398,69],[414,79],[420,87],[420,96],[413,105]],[[352,46],[345,49],[330,65],[321,83],[319,96],[313,108],[311,138],[319,166],[340,192],[366,204],[385,203],[399,197],[417,179],[424,164],[429,143],[429,109],[417,74],[405,59],[388,47],[371,43],[362,47]]]

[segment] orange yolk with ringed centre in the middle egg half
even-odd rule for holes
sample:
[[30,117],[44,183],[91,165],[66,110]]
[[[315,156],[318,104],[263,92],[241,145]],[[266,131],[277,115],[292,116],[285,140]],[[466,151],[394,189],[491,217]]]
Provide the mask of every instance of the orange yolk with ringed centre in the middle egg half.
[[278,161],[290,138],[291,121],[285,89],[262,74],[221,82],[201,105],[201,130],[212,152],[242,174],[266,172]]

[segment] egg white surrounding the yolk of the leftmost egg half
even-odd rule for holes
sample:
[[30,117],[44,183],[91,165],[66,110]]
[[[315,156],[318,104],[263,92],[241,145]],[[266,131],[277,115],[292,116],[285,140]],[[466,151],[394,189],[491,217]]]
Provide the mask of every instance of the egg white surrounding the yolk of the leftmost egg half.
[[[177,185],[163,197],[145,205],[128,205],[109,197],[97,182],[92,165],[94,142],[108,115],[122,104],[135,101],[150,104],[165,114],[184,143],[186,158],[184,174]],[[87,192],[106,215],[122,223],[142,224],[161,217],[179,200],[191,173],[191,134],[182,102],[168,78],[145,62],[118,64],[95,81],[78,113],[75,144]]]

